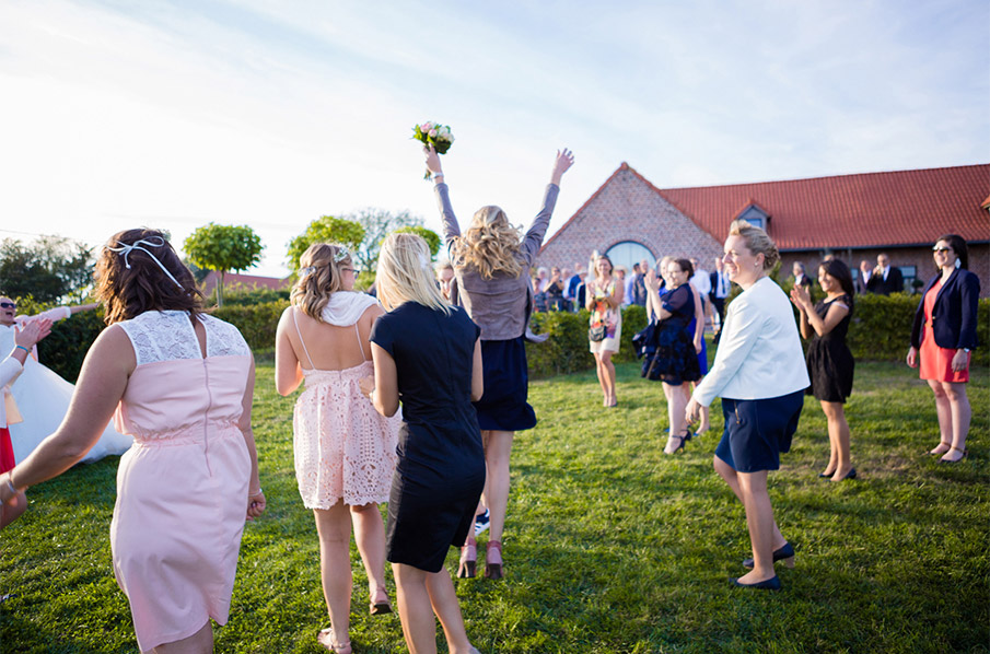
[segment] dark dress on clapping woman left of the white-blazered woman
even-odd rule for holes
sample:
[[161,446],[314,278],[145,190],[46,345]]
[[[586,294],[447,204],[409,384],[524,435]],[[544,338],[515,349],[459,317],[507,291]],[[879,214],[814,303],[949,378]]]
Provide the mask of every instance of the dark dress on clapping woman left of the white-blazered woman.
[[671,316],[657,324],[655,372],[660,379],[673,386],[701,378],[698,353],[695,352],[694,331],[689,325],[695,317],[695,297],[687,284],[665,294],[661,302]]

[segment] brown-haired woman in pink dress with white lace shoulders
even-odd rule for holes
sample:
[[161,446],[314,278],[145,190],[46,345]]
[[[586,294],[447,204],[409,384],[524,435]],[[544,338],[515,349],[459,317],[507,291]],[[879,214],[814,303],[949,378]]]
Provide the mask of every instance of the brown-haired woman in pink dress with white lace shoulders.
[[[113,236],[96,264],[109,325],[62,424],[10,472],[0,501],[61,475],[110,416],[132,435],[110,524],[114,572],[142,652],[210,652],[226,622],[244,521],[260,515],[251,429],[254,360],[161,232]],[[116,411],[116,413],[115,413]]]

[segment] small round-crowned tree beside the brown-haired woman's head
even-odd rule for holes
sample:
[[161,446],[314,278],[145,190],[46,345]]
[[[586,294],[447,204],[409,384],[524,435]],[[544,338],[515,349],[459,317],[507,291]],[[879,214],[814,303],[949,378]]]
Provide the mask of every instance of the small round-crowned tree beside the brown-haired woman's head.
[[246,270],[261,260],[261,238],[247,225],[206,224],[183,244],[186,256],[199,266],[220,272],[217,304],[223,306],[223,279],[229,270]]

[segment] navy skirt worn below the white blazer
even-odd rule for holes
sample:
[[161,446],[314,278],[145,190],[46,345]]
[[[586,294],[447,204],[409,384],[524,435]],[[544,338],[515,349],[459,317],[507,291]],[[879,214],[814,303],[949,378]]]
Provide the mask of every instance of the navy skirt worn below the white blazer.
[[766,399],[722,398],[725,429],[715,456],[737,472],[780,469],[780,453],[791,449],[804,389]]

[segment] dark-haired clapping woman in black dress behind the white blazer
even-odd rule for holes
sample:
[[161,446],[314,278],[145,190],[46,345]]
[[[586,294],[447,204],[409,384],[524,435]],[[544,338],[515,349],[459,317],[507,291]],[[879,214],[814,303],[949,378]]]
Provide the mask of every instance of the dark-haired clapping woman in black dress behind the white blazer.
[[791,302],[801,312],[801,337],[812,339],[807,347],[807,374],[812,379],[807,393],[822,402],[828,421],[828,465],[818,477],[842,481],[855,479],[849,455],[849,423],[842,407],[852,393],[855,366],[846,346],[855,290],[849,267],[839,259],[824,261],[818,267],[818,283],[825,291],[825,300],[813,305],[807,288],[794,284]]

